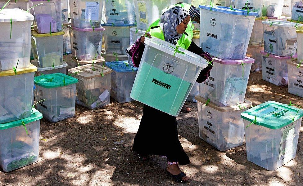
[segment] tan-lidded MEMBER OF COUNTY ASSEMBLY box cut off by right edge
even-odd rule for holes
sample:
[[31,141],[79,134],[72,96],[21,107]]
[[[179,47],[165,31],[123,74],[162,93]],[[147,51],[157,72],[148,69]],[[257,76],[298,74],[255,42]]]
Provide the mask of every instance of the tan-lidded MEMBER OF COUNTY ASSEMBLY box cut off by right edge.
[[[288,93],[303,98],[303,60],[287,60]],[[300,63],[301,62],[301,63]],[[300,64],[299,64],[300,63]]]

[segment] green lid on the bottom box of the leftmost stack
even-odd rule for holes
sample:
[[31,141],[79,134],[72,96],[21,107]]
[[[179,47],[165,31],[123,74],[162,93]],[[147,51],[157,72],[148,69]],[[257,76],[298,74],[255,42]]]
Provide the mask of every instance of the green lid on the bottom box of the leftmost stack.
[[13,121],[13,122],[0,124],[0,130],[5,130],[5,129],[13,128],[16,126],[21,126],[21,125],[23,125],[23,122],[26,125],[27,123],[37,121],[41,118],[42,118],[42,114],[38,110],[32,108],[32,115],[30,117],[27,117],[24,119],[19,119],[19,120]]

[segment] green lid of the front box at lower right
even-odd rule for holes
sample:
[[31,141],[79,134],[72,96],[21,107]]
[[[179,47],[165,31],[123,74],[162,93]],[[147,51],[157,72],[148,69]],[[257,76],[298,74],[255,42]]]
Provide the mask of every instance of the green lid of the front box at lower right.
[[287,104],[268,101],[241,113],[241,117],[254,124],[279,129],[303,117],[303,110]]

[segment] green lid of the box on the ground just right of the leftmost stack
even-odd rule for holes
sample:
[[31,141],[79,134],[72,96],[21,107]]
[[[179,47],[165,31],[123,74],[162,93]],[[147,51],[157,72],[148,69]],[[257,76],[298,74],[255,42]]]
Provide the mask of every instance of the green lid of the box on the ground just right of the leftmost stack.
[[68,76],[62,73],[46,74],[37,76],[34,79],[34,83],[44,88],[56,88],[59,86],[67,86],[77,83],[78,79]]

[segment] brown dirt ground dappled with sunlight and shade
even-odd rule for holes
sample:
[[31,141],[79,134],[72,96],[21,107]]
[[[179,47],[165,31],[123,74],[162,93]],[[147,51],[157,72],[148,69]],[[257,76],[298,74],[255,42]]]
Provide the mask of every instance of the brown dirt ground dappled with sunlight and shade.
[[[253,105],[291,100],[303,106],[303,98],[288,94],[287,86],[274,86],[261,77],[250,75],[246,99]],[[247,161],[245,145],[220,152],[199,139],[197,103],[187,104],[192,112],[181,113],[177,120],[179,139],[191,161],[181,167],[191,177],[189,185],[303,185],[303,127],[296,158],[268,171]],[[165,158],[140,162],[131,153],[142,104],[111,100],[105,108],[111,111],[94,113],[77,105],[74,118],[57,123],[42,119],[38,162],[9,173],[0,171],[0,185],[181,185],[166,173]]]

